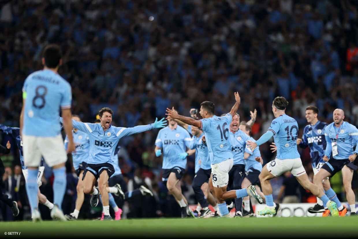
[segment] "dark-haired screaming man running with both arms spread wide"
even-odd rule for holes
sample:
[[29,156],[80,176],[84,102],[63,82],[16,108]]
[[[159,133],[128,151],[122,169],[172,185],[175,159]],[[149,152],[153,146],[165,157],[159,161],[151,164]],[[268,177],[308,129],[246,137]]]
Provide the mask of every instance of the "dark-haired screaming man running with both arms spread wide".
[[[105,210],[104,219],[111,220],[109,213],[109,196],[108,192],[118,194],[121,192],[119,184],[116,187],[107,187],[108,179],[115,172],[113,167],[113,155],[116,149],[115,145],[125,136],[135,133],[141,133],[153,128],[162,128],[166,121],[162,118],[160,121],[155,119],[155,122],[150,125],[140,125],[132,128],[111,126],[113,111],[110,108],[102,108],[99,112],[101,123],[83,123],[72,120],[74,128],[81,130],[89,136],[89,158],[87,167],[84,170],[83,191],[86,194],[93,194],[91,198],[91,206],[96,206],[98,197],[101,194],[103,208]],[[62,121],[62,118],[60,118]],[[88,173],[89,172],[89,173]],[[98,179],[98,188],[93,188]],[[112,191],[113,190],[113,191]],[[122,193],[121,193],[122,194]]]

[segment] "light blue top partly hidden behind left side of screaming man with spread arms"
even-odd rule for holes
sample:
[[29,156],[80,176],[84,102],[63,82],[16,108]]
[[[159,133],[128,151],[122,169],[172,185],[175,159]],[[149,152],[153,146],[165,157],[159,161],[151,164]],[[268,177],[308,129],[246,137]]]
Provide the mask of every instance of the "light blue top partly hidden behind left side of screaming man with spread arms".
[[[78,165],[82,162],[87,163],[89,158],[89,136],[87,133],[78,130],[72,130],[73,142],[76,145],[76,150],[72,152],[72,164],[74,170],[78,169]],[[65,149],[68,145],[68,137],[65,138]]]

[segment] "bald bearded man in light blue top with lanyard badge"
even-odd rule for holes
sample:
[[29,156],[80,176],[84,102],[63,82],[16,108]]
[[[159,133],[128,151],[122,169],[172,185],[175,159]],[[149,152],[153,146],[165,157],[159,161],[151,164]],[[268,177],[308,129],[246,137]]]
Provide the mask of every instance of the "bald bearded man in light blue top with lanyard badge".
[[[355,211],[355,196],[352,190],[353,170],[357,166],[353,161],[358,155],[358,129],[350,123],[344,122],[344,111],[335,109],[333,111],[333,122],[326,126],[324,135],[327,142],[323,160],[326,163],[315,175],[313,182],[320,188],[322,180],[326,177],[332,177],[339,171],[342,171],[343,186],[347,195],[347,201],[350,206],[350,215],[357,215]],[[353,146],[356,145],[353,152]],[[331,156],[331,159],[329,157]],[[330,209],[330,208],[329,208]],[[330,210],[332,213],[332,210]]]

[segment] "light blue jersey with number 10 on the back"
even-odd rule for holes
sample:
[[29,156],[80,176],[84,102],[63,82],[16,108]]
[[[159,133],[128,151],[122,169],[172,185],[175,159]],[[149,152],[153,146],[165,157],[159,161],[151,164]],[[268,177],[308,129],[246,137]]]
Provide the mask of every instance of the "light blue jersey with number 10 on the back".
[[268,130],[274,133],[277,146],[276,159],[300,158],[296,144],[298,125],[294,118],[287,116],[287,114],[281,114],[271,122]]

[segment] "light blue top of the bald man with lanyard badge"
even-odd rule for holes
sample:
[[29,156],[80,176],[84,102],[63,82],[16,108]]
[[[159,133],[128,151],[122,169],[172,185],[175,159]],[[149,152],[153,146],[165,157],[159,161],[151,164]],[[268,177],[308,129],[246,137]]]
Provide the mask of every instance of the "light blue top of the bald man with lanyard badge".
[[[348,159],[353,153],[358,153],[358,129],[350,123],[344,122],[337,128],[334,122],[330,123],[324,132],[327,141],[325,150],[326,156],[330,157],[332,153],[332,143],[337,142],[338,154],[333,155],[334,159]],[[353,147],[355,151],[353,152]]]

